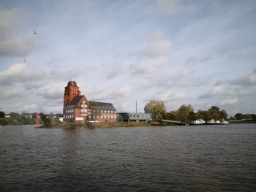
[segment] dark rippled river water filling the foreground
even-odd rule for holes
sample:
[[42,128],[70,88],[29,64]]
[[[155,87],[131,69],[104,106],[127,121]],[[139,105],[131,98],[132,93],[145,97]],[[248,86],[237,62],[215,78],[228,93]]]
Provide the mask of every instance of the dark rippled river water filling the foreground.
[[256,191],[256,125],[2,126],[0,191]]

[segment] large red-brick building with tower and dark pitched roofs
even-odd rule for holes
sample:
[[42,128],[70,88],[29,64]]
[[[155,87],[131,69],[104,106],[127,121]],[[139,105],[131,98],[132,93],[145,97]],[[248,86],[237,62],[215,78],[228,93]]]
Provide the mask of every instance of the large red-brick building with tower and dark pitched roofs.
[[117,120],[116,108],[111,103],[88,101],[80,95],[75,81],[69,81],[64,90],[63,121],[113,122]]

